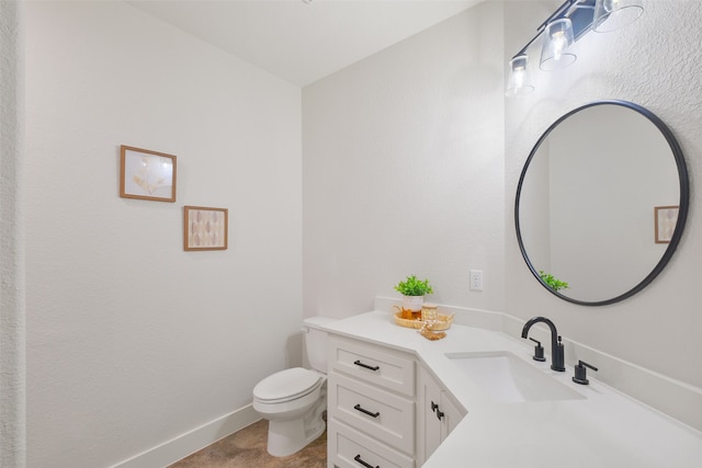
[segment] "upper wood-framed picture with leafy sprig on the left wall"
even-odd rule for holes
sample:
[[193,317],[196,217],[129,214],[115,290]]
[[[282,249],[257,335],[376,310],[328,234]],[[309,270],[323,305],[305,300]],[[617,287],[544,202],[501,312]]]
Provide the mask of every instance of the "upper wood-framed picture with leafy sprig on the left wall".
[[122,145],[120,196],[176,202],[176,157]]

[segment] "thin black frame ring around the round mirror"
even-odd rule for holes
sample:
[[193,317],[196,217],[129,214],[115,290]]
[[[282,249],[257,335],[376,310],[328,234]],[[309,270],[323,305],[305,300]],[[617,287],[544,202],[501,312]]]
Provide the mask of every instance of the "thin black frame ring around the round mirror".
[[[613,297],[611,299],[599,300],[599,301],[585,301],[585,300],[574,299],[571,297],[565,296],[554,290],[541,278],[541,276],[539,275],[539,272],[534,269],[534,265],[532,265],[531,261],[529,260],[529,255],[526,254],[524,243],[522,241],[522,235],[521,235],[521,229],[519,224],[519,199],[522,191],[522,184],[524,182],[524,176],[526,175],[526,170],[529,169],[529,164],[531,160],[534,158],[534,156],[536,155],[539,147],[544,141],[544,139],[546,139],[546,137],[551,134],[551,132],[553,132],[558,126],[558,124],[561,124],[563,121],[565,121],[573,114],[584,111],[588,107],[593,107],[596,105],[603,105],[603,104],[620,105],[623,107],[631,109],[632,111],[638,112],[639,114],[648,118],[656,126],[656,128],[658,128],[658,130],[660,130],[660,133],[664,135],[664,137],[666,138],[666,141],[668,141],[668,145],[670,146],[672,156],[675,157],[676,165],[678,167],[678,180],[680,182],[680,203],[679,203],[680,208],[678,212],[678,222],[676,224],[676,228],[672,232],[672,237],[670,239],[670,243],[668,244],[668,248],[664,252],[663,256],[660,258],[656,266],[652,270],[650,273],[648,273],[646,277],[644,277],[644,279],[641,283],[638,283],[636,286],[625,292],[624,294]],[[563,115],[556,122],[554,122],[546,129],[546,132],[544,132],[544,134],[539,138],[539,140],[532,148],[531,152],[529,153],[529,158],[526,159],[526,162],[524,162],[522,173],[519,178],[519,184],[517,185],[517,196],[514,201],[516,201],[514,202],[514,226],[517,228],[517,240],[519,242],[519,250],[522,253],[522,258],[526,262],[526,266],[529,267],[531,273],[534,275],[534,277],[539,281],[539,283],[543,287],[545,287],[551,294],[559,297],[563,300],[567,300],[568,303],[578,304],[580,306],[607,306],[610,304],[614,304],[614,303],[619,303],[624,299],[627,299],[633,295],[635,295],[636,293],[638,293],[639,290],[642,290],[643,288],[645,288],[646,286],[648,286],[654,281],[654,278],[658,276],[658,274],[660,274],[663,269],[665,269],[665,266],[670,261],[670,258],[675,253],[678,247],[678,243],[680,242],[680,238],[682,237],[682,231],[684,229],[684,224],[688,218],[688,208],[690,204],[690,181],[688,176],[688,167],[684,162],[684,157],[682,156],[682,150],[680,149],[680,145],[678,144],[678,140],[676,139],[676,137],[672,135],[672,132],[670,132],[670,129],[666,126],[666,124],[660,118],[658,118],[658,116],[656,116],[653,112],[648,111],[645,107],[642,107],[641,105],[637,105],[627,101],[619,101],[619,100],[596,101],[596,102],[591,102],[589,104],[582,105],[580,107],[577,107],[568,112],[567,114]]]

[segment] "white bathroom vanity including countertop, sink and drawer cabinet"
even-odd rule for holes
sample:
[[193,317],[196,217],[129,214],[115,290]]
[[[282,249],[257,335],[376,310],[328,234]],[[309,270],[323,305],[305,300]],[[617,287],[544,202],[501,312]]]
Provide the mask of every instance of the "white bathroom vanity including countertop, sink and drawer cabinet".
[[454,324],[429,341],[386,311],[325,329],[330,468],[702,463],[702,433],[597,376],[573,383],[519,336]]

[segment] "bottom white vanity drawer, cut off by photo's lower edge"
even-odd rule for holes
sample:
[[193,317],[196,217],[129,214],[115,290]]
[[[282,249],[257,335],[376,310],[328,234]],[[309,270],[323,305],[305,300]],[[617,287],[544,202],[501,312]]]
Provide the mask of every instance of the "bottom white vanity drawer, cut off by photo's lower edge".
[[412,458],[333,419],[327,426],[327,444],[330,468],[415,468]]

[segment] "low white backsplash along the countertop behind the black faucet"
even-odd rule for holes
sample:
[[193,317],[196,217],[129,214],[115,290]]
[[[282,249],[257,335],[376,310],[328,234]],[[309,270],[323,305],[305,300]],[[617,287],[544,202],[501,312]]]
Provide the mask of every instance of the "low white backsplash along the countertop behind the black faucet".
[[[399,298],[376,297],[375,310],[393,310],[400,305]],[[454,313],[453,323],[506,333],[519,339],[524,320],[503,312],[469,309],[467,307],[439,305],[442,311]],[[532,330],[530,335],[548,343],[551,335],[545,330]],[[687,383],[653,372],[634,363],[620,359],[586,344],[566,338],[566,365],[574,366],[578,359],[596,364],[599,372],[589,378],[599,380],[627,397],[659,411],[667,416],[702,431],[702,389]],[[546,354],[548,345],[544,345]]]

